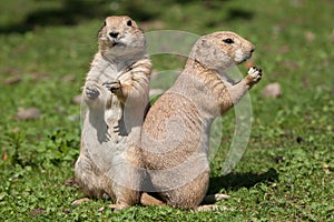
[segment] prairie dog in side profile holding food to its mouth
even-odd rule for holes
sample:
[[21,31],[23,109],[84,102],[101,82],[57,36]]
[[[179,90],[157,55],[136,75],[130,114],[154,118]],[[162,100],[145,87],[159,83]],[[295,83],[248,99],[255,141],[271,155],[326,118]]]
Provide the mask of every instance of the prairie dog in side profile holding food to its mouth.
[[226,72],[253,51],[254,46],[234,32],[197,40],[175,84],[146,115],[140,145],[148,180],[143,190],[167,205],[197,209],[209,181],[210,124],[262,78],[255,67],[237,83]]

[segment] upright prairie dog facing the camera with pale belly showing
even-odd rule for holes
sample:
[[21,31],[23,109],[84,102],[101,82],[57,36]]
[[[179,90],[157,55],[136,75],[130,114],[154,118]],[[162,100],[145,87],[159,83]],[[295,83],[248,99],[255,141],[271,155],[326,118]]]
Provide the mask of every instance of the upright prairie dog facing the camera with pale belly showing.
[[137,140],[144,121],[151,62],[143,31],[127,16],[106,18],[98,49],[82,91],[88,109],[75,180],[87,196],[110,198],[121,209],[140,198],[122,180],[138,182],[128,168],[137,153],[128,144]]

